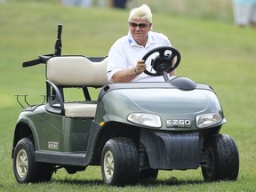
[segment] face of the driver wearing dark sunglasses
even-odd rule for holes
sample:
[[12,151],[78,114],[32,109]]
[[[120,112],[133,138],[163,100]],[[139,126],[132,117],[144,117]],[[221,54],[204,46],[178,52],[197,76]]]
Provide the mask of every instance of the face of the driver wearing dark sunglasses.
[[147,20],[131,20],[129,22],[130,33],[133,39],[140,44],[145,46],[148,40],[148,31],[151,28],[151,23]]

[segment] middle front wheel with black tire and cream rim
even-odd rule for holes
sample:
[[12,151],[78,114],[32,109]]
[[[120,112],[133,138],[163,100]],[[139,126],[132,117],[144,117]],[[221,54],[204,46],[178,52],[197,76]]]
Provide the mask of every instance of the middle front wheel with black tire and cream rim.
[[135,185],[139,180],[139,156],[134,142],[127,138],[108,140],[101,154],[101,173],[111,186]]

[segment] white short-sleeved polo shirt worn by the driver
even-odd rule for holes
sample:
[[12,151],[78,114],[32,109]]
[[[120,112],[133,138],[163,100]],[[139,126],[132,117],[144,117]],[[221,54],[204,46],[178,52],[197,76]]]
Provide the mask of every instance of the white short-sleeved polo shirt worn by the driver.
[[[149,31],[148,42],[143,47],[134,41],[129,31],[128,35],[118,39],[108,52],[108,81],[113,82],[112,76],[117,71],[135,68],[138,60],[141,60],[147,52],[159,46],[172,46],[172,44],[167,36]],[[150,61],[156,55],[152,54],[146,61],[147,69],[152,73],[155,73],[155,70],[153,68],[151,69]],[[132,82],[164,82],[164,76],[148,76],[145,73],[141,73],[132,79]]]

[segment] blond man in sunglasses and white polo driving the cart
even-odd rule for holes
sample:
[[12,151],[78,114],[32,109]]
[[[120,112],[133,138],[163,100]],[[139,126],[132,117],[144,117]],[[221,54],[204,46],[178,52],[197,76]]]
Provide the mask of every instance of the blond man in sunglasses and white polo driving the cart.
[[[133,8],[128,24],[128,35],[118,39],[108,52],[108,81],[164,82],[163,76],[148,76],[143,73],[146,68],[151,71],[150,59],[147,62],[141,60],[147,52],[159,46],[172,46],[168,37],[150,30],[152,13],[148,5]],[[152,58],[155,57],[153,54]],[[174,76],[175,70],[169,75]]]

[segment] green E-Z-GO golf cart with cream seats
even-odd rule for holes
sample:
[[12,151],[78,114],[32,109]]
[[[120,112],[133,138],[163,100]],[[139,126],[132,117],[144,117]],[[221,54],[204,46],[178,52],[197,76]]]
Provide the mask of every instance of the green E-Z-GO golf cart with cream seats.
[[[61,55],[59,25],[55,52],[23,63],[45,65],[46,101],[23,107],[12,145],[13,172],[19,183],[52,179],[65,168],[69,174],[89,165],[101,166],[108,185],[135,185],[156,180],[159,170],[201,167],[205,181],[236,180],[239,155],[235,141],[220,133],[226,118],[216,93],[188,77],[169,80],[180,64],[180,52],[159,47],[148,76],[163,83],[109,84],[108,57]],[[154,57],[152,56],[154,55]],[[92,88],[99,88],[96,100]],[[67,100],[68,90],[83,100]]]

